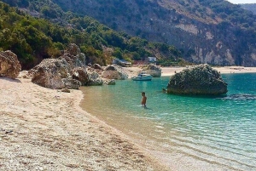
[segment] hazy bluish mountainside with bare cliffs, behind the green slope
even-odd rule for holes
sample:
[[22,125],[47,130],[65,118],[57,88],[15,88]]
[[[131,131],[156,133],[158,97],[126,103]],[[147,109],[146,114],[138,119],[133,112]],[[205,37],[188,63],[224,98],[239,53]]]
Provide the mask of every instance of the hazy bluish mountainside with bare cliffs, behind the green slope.
[[[66,11],[89,15],[114,30],[125,31],[149,41],[172,44],[191,62],[219,66],[256,66],[254,31],[239,25],[238,21],[230,22],[230,17],[226,20],[228,17],[225,14],[216,14],[200,3],[207,0],[53,2]],[[250,17],[252,23],[256,23],[255,15],[250,14]]]

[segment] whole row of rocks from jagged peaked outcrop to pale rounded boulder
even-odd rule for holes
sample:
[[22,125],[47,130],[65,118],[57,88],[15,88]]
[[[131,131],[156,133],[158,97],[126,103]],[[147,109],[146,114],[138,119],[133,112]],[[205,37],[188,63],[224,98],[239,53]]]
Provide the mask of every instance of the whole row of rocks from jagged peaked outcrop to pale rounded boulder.
[[32,83],[45,88],[79,89],[80,86],[114,85],[112,79],[126,79],[128,75],[118,66],[108,66],[102,80],[102,66],[85,66],[85,55],[70,44],[58,59],[45,59],[29,71]]

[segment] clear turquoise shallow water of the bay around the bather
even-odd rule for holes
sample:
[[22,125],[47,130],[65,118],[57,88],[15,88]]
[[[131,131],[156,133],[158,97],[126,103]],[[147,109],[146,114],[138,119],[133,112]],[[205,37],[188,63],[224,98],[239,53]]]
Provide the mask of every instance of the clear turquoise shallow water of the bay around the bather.
[[169,77],[161,77],[82,88],[81,105],[174,170],[256,170],[256,74],[223,77],[225,96],[164,94]]

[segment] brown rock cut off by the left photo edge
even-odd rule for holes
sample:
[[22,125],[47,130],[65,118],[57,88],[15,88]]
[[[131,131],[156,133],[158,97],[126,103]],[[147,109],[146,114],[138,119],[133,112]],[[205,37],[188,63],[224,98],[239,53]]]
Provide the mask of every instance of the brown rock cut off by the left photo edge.
[[7,50],[0,52],[0,77],[15,79],[21,70],[20,61],[17,55]]

